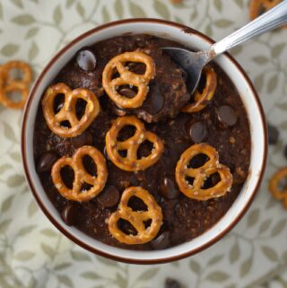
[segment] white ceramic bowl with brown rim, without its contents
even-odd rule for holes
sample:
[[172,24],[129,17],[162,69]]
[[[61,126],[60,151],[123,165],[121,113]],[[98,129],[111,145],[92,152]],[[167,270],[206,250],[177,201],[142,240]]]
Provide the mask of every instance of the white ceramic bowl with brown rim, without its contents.
[[74,41],[65,46],[65,48],[52,58],[39,75],[30,91],[30,97],[26,104],[22,124],[22,159],[24,170],[30,190],[43,212],[48,216],[48,219],[54,223],[57,229],[62,231],[65,236],[82,246],[84,249],[88,249],[91,252],[104,257],[129,263],[152,264],[178,260],[179,258],[190,256],[207,248],[216,240],[221,239],[227,231],[230,231],[230,229],[238,223],[240,217],[247,211],[248,206],[256,195],[257,188],[264,174],[267,142],[263,109],[258,99],[257,92],[248,79],[247,74],[245,74],[240,65],[233,57],[230,57],[230,55],[224,54],[217,57],[215,62],[222,67],[225,73],[229,75],[231,81],[235,84],[248,113],[252,144],[250,170],[248,179],[228,212],[224,214],[222,219],[211,229],[205,231],[202,235],[196,237],[196,239],[176,247],[156,251],[118,249],[98,240],[94,240],[85,235],[82,231],[65,225],[60,214],[57,212],[57,209],[48,199],[48,196],[40,183],[39,175],[36,172],[33,157],[33,131],[39,101],[43,92],[61,68],[74,57],[74,54],[80,48],[126,33],[149,33],[161,38],[172,39],[188,48],[199,50],[206,49],[213,43],[212,39],[209,39],[198,31],[194,31],[175,22],[166,22],[156,19],[130,19],[110,22],[74,39]]

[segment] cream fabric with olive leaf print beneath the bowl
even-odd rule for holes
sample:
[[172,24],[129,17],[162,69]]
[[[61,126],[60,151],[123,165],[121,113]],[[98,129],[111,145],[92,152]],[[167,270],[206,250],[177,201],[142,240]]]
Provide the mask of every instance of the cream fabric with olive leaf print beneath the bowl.
[[[182,22],[213,39],[249,21],[248,0],[1,0],[0,64],[29,62],[37,75],[57,50],[83,31],[130,17]],[[252,40],[232,54],[254,81],[268,120],[281,130],[248,214],[204,252],[161,266],[117,263],[77,247],[39,210],[20,156],[22,112],[0,106],[0,287],[161,288],[167,276],[189,288],[287,287],[287,211],[267,180],[287,164],[287,30]],[[284,273],[285,271],[285,273]],[[273,279],[273,280],[271,280]],[[267,281],[269,280],[269,281]]]

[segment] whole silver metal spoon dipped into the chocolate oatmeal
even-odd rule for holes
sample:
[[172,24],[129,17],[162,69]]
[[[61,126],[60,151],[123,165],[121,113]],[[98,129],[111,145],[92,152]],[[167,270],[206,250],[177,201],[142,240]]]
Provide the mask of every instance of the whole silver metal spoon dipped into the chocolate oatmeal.
[[170,57],[178,63],[188,74],[188,91],[193,93],[196,90],[204,65],[221,55],[226,50],[252,39],[266,31],[273,30],[287,23],[287,0],[276,5],[270,11],[264,13],[252,22],[233,32],[230,36],[213,44],[204,51],[191,52],[183,48],[162,48],[170,54]]

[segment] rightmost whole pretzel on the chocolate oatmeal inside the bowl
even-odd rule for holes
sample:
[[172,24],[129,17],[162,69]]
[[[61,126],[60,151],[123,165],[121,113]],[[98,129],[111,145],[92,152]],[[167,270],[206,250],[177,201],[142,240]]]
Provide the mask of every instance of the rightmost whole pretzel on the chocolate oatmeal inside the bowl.
[[[205,154],[209,160],[198,168],[188,168],[189,162],[197,155]],[[203,189],[204,180],[218,172],[221,180],[213,187]],[[194,179],[189,184],[187,177]],[[194,144],[181,154],[176,167],[176,181],[179,190],[187,197],[196,200],[208,200],[225,195],[232,186],[232,175],[228,167],[220,164],[219,156],[209,144]]]

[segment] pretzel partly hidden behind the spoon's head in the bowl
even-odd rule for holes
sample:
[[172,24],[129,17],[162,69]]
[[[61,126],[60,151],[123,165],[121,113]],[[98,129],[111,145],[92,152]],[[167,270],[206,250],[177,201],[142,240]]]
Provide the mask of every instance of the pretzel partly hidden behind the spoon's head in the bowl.
[[204,91],[201,93],[196,90],[194,94],[194,102],[188,103],[181,109],[182,112],[186,113],[196,113],[204,109],[208,103],[208,101],[213,99],[213,95],[216,91],[217,87],[217,77],[213,70],[213,67],[206,66],[204,68],[203,73],[206,76],[206,83],[204,86]]

